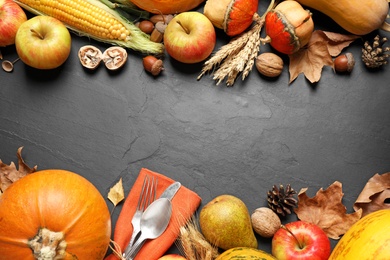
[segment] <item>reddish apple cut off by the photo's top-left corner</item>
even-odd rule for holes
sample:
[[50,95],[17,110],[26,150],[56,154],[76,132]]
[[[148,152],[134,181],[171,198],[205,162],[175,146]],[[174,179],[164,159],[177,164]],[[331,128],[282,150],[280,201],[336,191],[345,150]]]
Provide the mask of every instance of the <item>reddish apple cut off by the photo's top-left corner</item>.
[[19,26],[27,21],[26,13],[12,0],[0,0],[0,47],[15,43]]

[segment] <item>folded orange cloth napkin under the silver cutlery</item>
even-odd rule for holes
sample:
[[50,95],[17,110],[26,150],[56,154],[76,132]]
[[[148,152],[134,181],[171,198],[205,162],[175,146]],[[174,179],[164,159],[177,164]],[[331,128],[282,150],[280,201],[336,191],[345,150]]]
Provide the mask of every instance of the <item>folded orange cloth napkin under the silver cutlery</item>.
[[[138,198],[141,194],[142,185],[145,175],[154,176],[158,179],[157,196],[175,181],[151,170],[142,168],[129,195],[127,196],[114,230],[114,241],[121,248],[122,253],[125,251],[127,244],[130,242],[133,226],[131,219],[135,213]],[[163,256],[164,253],[173,245],[179,235],[179,229],[187,220],[195,213],[199,207],[201,198],[193,191],[184,187],[180,187],[176,195],[172,199],[172,216],[165,232],[156,239],[146,240],[145,244],[138,252],[135,260],[156,260]],[[110,254],[105,260],[120,259],[115,254]]]

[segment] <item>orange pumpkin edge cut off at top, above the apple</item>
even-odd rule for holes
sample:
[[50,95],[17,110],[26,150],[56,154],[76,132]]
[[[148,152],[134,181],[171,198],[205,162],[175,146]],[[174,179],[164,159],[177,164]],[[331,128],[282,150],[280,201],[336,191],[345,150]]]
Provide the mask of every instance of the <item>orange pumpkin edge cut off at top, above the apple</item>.
[[204,0],[130,0],[133,4],[154,14],[178,14],[194,9]]

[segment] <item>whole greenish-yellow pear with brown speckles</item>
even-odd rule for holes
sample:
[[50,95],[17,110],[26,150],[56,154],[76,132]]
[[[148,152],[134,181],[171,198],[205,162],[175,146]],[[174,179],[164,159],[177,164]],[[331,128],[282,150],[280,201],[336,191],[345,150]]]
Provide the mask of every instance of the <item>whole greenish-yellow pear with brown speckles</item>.
[[248,208],[235,196],[224,194],[207,203],[200,211],[199,224],[206,240],[219,248],[257,248]]

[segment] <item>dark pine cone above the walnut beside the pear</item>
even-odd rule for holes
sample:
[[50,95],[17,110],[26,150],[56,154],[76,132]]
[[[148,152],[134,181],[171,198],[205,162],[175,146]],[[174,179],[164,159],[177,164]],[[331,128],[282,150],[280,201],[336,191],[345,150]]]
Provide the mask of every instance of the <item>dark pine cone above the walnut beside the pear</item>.
[[287,184],[286,189],[283,185],[279,188],[274,185],[272,190],[267,193],[268,206],[278,215],[286,216],[292,213],[292,209],[297,206],[297,200],[294,198],[296,191]]

